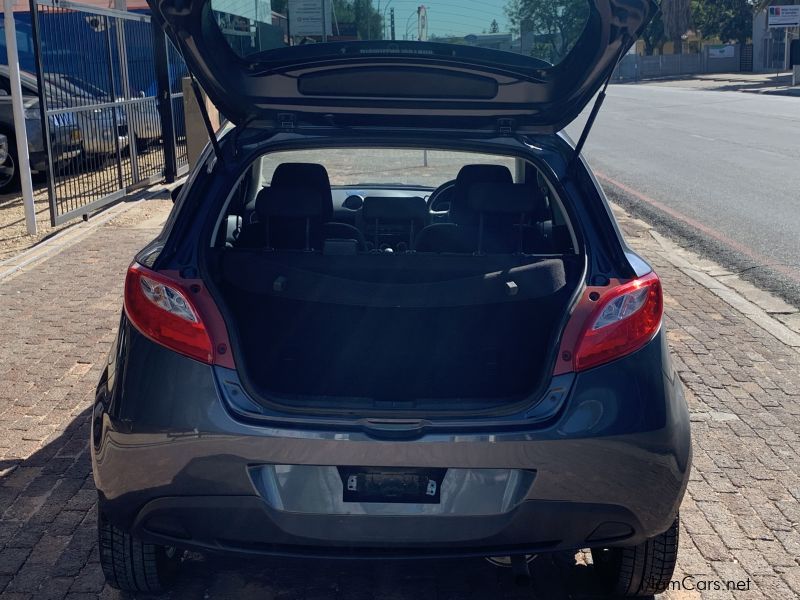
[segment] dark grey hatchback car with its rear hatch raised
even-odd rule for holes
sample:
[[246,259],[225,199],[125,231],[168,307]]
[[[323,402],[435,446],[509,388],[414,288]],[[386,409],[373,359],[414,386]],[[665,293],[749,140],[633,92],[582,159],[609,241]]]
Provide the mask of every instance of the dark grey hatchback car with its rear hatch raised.
[[421,19],[299,43],[241,4],[151,2],[231,123],[128,270],[92,419],[109,583],[162,589],[185,549],[590,548],[608,593],[663,591],[691,444],[661,283],[579,156],[603,92],[559,133],[654,6],[581,4],[545,61]]

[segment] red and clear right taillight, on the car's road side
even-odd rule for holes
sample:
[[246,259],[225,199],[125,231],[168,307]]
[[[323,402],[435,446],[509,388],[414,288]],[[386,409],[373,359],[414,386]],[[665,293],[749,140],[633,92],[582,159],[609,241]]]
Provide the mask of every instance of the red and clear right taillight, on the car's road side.
[[664,303],[655,273],[617,286],[600,304],[578,338],[574,368],[583,371],[635,352],[661,326]]

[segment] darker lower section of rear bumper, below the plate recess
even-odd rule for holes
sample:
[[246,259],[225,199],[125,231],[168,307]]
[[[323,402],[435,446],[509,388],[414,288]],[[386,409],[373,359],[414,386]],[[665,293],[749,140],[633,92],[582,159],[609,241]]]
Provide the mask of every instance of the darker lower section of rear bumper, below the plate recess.
[[162,497],[132,530],[164,545],[211,552],[326,558],[532,554],[635,543],[636,517],[619,506],[527,500],[509,513],[327,515],[279,511],[253,496]]

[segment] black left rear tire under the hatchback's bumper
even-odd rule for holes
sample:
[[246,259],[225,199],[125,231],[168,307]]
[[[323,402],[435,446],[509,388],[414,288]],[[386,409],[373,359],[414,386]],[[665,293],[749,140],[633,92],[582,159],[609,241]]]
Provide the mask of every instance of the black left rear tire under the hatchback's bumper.
[[175,578],[180,554],[140,541],[98,514],[100,565],[108,584],[124,592],[157,594]]

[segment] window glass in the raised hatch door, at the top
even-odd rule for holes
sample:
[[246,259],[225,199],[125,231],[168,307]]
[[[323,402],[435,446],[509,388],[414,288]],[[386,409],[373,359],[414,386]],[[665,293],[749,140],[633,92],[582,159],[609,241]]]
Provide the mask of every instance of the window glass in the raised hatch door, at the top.
[[395,40],[410,52],[424,52],[426,43],[453,44],[552,65],[569,53],[589,17],[587,0],[211,0],[211,9],[242,57],[308,44]]

